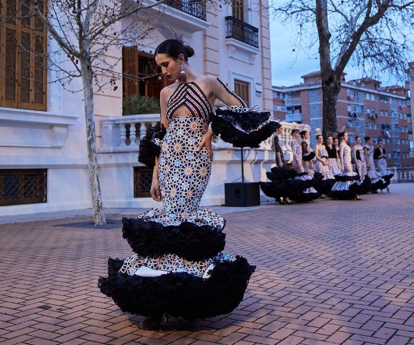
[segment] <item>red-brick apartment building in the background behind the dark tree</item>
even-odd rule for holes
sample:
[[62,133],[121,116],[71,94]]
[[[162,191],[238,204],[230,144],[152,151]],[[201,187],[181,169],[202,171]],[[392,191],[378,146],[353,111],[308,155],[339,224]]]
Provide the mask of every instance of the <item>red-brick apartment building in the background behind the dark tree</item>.
[[[411,112],[408,92],[404,86],[381,86],[371,79],[346,81],[342,75],[337,101],[337,128],[348,132],[349,142],[355,137],[371,137],[373,144],[382,139],[389,166],[413,166],[410,157]],[[320,72],[302,76],[294,86],[274,87],[286,95],[286,121],[309,124],[313,130],[322,128],[322,86]],[[364,141],[363,141],[364,142]],[[311,136],[315,145],[315,138]]]

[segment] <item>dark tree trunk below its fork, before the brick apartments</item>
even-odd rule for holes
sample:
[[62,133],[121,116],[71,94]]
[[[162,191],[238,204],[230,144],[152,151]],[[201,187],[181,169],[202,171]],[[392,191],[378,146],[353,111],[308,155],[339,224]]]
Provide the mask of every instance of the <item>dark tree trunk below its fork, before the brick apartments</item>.
[[327,138],[337,131],[336,107],[341,81],[335,72],[322,72],[322,135]]

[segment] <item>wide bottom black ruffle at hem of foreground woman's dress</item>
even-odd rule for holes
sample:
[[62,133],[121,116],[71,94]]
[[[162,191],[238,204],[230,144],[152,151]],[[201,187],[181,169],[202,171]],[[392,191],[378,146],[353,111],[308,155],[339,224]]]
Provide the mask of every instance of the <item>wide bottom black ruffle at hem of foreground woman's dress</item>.
[[167,313],[192,320],[227,314],[242,302],[255,266],[244,257],[218,263],[208,279],[188,273],[159,277],[119,274],[123,260],[108,260],[109,277],[99,277],[101,292],[125,313],[152,316]]

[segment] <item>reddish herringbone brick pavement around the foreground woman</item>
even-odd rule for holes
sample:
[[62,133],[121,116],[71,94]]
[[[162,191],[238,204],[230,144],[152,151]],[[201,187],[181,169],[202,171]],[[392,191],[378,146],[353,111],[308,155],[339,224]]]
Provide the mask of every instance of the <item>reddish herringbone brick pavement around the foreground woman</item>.
[[[226,250],[257,265],[245,299],[198,328],[143,331],[97,288],[131,251],[119,215],[0,225],[1,344],[414,344],[414,184],[363,201],[228,213]],[[131,215],[132,216],[132,215]]]

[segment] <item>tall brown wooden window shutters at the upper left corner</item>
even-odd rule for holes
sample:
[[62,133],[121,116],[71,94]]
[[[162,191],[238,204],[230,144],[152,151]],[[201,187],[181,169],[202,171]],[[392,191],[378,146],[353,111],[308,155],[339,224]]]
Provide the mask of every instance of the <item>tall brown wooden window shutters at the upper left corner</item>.
[[30,17],[30,0],[0,1],[0,106],[46,110],[46,28]]

